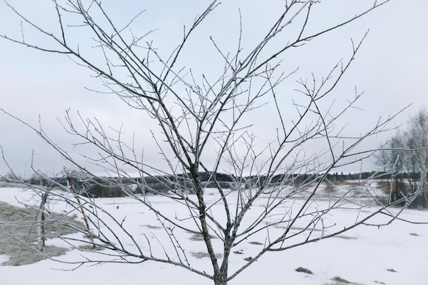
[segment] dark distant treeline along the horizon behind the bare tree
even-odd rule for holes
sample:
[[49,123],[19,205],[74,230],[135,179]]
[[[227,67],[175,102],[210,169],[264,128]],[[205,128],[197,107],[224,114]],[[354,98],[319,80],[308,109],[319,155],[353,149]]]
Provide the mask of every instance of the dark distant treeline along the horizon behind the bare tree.
[[[326,178],[330,182],[341,182],[344,180],[359,180],[373,176],[375,172],[362,172],[360,174],[327,174]],[[265,182],[267,176],[246,176],[238,178],[231,174],[217,173],[213,178],[207,172],[200,172],[200,181],[202,187],[222,187],[222,189],[250,188],[257,187]],[[386,174],[385,174],[386,176]],[[196,189],[189,174],[179,174],[178,176],[146,176],[144,178],[100,178],[90,177],[83,174],[70,174],[72,184],[80,195],[88,195],[94,198],[120,197],[126,195],[126,192],[136,195],[147,195],[148,193],[165,193],[178,189],[187,189],[190,193]],[[278,174],[274,176],[270,183],[283,182],[284,184],[293,183],[295,185],[317,180],[317,176],[311,174]],[[387,178],[387,177],[385,177]],[[59,184],[69,187],[70,182],[66,176],[55,178],[33,177],[26,181],[31,185],[49,186]]]

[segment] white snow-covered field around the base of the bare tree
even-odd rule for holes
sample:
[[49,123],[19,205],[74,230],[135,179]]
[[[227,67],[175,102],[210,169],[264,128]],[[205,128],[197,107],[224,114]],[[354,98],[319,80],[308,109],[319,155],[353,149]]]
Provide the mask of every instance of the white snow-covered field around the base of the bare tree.
[[[210,199],[209,195],[207,197]],[[19,206],[21,204],[18,201],[29,199],[31,193],[21,189],[0,188],[0,201]],[[157,196],[150,199],[161,207],[161,211],[174,209],[170,200]],[[148,228],[155,234],[161,231],[156,227],[157,221],[151,218],[148,210],[131,198],[101,198],[97,203],[118,219],[126,216],[127,226],[135,236],[141,235],[142,230]],[[55,211],[58,211],[66,205],[56,204],[55,207]],[[332,220],[340,224],[352,217],[349,211],[340,210],[334,213]],[[412,221],[428,221],[428,211],[407,210],[401,217]],[[188,238],[178,237],[187,249],[190,261],[198,268],[210,271],[209,259],[195,254],[204,252],[203,242],[192,239],[191,234],[188,234]],[[242,254],[232,256],[232,269],[241,266],[243,258],[254,256],[258,247],[263,247],[250,243],[252,241],[256,240],[251,239],[248,243],[238,245],[237,250]],[[7,256],[0,256],[0,263],[7,259]],[[70,250],[65,256],[61,256],[61,259],[81,260],[81,252]],[[298,267],[309,269],[313,274],[295,271]],[[1,266],[0,285],[213,284],[211,280],[180,267],[157,262],[92,264],[79,267],[75,271],[64,270],[73,268],[52,260],[21,267]],[[347,284],[340,280],[364,285],[427,285],[428,225],[394,221],[390,226],[379,229],[360,226],[331,239],[294,247],[284,252],[266,254],[229,284]]]

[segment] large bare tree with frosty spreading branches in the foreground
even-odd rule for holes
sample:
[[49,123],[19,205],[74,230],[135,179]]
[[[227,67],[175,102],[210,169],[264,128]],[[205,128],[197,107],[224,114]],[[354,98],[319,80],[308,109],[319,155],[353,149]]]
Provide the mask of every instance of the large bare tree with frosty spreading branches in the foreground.
[[[124,27],[118,27],[101,1],[54,0],[57,27],[52,30],[51,27],[45,29],[37,25],[33,19],[15,10],[9,1],[4,2],[11,12],[21,18],[25,26],[23,30],[31,29],[31,33],[51,41],[42,46],[27,42],[24,36],[12,38],[1,35],[2,38],[40,51],[67,55],[77,64],[92,70],[107,92],[116,94],[129,107],[147,113],[160,128],[159,133],[146,131],[152,133],[159,147],[160,159],[165,161],[168,169],[147,164],[137,146],[132,141],[122,139],[122,130],[112,135],[96,119],[79,117],[80,120],[75,122],[67,113],[64,121],[66,131],[75,135],[79,144],[92,145],[98,150],[99,157],[87,159],[104,169],[106,174],[116,177],[116,180],[111,177],[98,179],[121,187],[127,195],[149,208],[165,231],[165,239],[157,237],[157,245],[150,242],[146,232],[143,233],[145,241],[136,239],[126,228],[126,223],[105,212],[96,200],[81,196],[77,204],[65,192],[55,192],[59,198],[75,205],[75,210],[90,213],[90,230],[70,224],[91,239],[81,241],[105,248],[100,252],[102,258],[87,258],[80,260],[79,264],[152,260],[183,267],[208,277],[214,284],[227,284],[268,252],[283,251],[336,236],[358,225],[371,224],[369,219],[378,214],[384,214],[389,219],[376,226],[386,225],[401,213],[390,212],[390,206],[404,201],[403,210],[425,189],[425,184],[421,183],[412,195],[382,204],[377,193],[368,186],[370,180],[376,177],[373,174],[343,193],[325,196],[320,192],[327,174],[371,156],[374,150],[359,150],[358,146],[365,139],[386,131],[388,122],[394,118],[379,120],[366,133],[349,137],[343,135],[340,120],[347,111],[356,107],[361,94],[356,90],[347,105],[340,109],[332,107],[333,90],[351,66],[365,36],[358,42],[352,41],[348,59],[334,64],[323,77],[312,74],[309,80],[299,79],[293,113],[282,107],[284,100],[279,94],[281,86],[297,72],[287,72],[282,68],[281,58],[286,53],[357,21],[388,0],[373,1],[363,12],[319,31],[308,29],[308,26],[313,22],[314,6],[321,5],[321,1],[285,1],[284,11],[258,44],[245,46],[244,49],[239,36],[235,52],[225,53],[212,39],[224,64],[222,72],[215,78],[194,74],[191,68],[180,66],[179,62],[184,51],[197,48],[187,46],[189,39],[217,8],[217,1],[210,3],[195,18],[193,25],[184,30],[181,42],[168,57],[161,56],[154,43],[145,42],[151,31],[143,36],[131,32],[139,14]],[[274,38],[283,36],[289,27],[293,27],[295,32],[287,35],[287,40],[281,44],[275,42]],[[94,53],[85,49],[88,46],[81,45],[86,43],[74,42],[75,39],[69,36],[72,29],[77,28],[81,33],[90,34],[94,42],[88,46],[103,55],[103,62],[93,59]],[[271,128],[273,139],[262,146],[257,134],[252,132],[251,118],[252,113],[257,113],[264,105],[271,105],[275,112],[269,113],[272,123],[267,126]],[[12,114],[10,116],[14,117]],[[32,128],[68,163],[79,169],[85,179],[94,179],[95,175],[88,167],[46,135],[42,125],[34,127],[27,122],[23,124]],[[322,147],[310,153],[307,151],[310,144]],[[212,154],[215,154],[214,159]],[[217,180],[216,174],[224,171],[228,171],[234,180],[231,191],[222,188]],[[201,172],[208,174],[207,181],[202,181]],[[150,191],[171,199],[176,203],[176,213],[182,216],[159,211],[158,205],[152,203],[148,196],[135,195],[124,187],[122,179],[132,178],[133,173],[139,175],[136,181],[145,193]],[[164,191],[151,187],[146,182],[149,178],[163,185]],[[205,182],[216,185],[216,200],[206,198]],[[56,184],[68,189],[59,182]],[[376,211],[363,213],[361,209],[364,205],[351,198],[354,191],[361,189],[365,189],[379,206]],[[252,209],[260,198],[265,201],[263,208]],[[302,203],[286,206],[287,202],[297,198]],[[324,208],[315,207],[314,203],[321,198],[331,202]],[[341,208],[355,210],[356,219],[340,227],[324,223],[327,215]],[[249,220],[250,211],[258,211],[258,218]],[[297,225],[299,230],[295,232],[293,229]],[[281,229],[279,232],[278,228]],[[191,263],[186,249],[181,247],[178,232],[202,236],[211,260],[211,271]],[[126,236],[123,239],[130,241],[132,246],[124,243],[120,236]],[[263,248],[241,267],[230,272],[228,265],[234,248],[253,236],[263,237]],[[75,242],[66,237],[63,239],[69,243]],[[215,239],[221,241],[220,247]],[[216,254],[218,252],[222,253],[221,258]]]

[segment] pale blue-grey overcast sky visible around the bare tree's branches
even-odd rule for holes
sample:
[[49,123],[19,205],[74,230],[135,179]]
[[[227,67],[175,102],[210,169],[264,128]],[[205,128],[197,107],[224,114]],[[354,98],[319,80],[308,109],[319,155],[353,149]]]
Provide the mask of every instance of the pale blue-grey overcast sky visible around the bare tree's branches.
[[[150,40],[166,55],[178,45],[183,34],[183,25],[189,26],[197,14],[210,1],[114,1],[107,4],[107,12],[118,26],[135,16],[137,11],[146,10],[133,27],[134,33],[145,33],[157,29]],[[243,23],[243,48],[250,50],[252,44],[262,38],[284,6],[284,1],[225,1],[206,19],[191,44],[185,51],[182,62],[196,73],[215,73],[219,61],[213,49],[210,36],[224,51],[235,51],[239,35],[239,9]],[[324,3],[325,2],[325,3]],[[57,25],[55,10],[51,1],[10,0],[11,5],[21,9],[43,27]],[[117,6],[115,6],[117,5]],[[317,31],[350,18],[362,9],[373,5],[373,1],[328,0],[317,6],[310,29]],[[358,42],[367,30],[369,34],[356,56],[351,70],[338,85],[337,104],[352,98],[354,87],[364,91],[358,103],[360,110],[354,110],[344,117],[349,123],[348,132],[358,135],[373,126],[379,118],[397,113],[412,104],[394,120],[394,125],[405,123],[412,113],[427,107],[427,27],[428,1],[396,0],[387,3],[373,13],[360,18],[348,27],[338,29],[322,38],[310,42],[302,52],[292,53],[284,58],[284,72],[299,68],[299,77],[308,78],[311,72],[317,77],[325,76],[341,58],[347,59],[352,51],[351,38]],[[23,25],[25,40],[38,44],[49,44]],[[288,31],[287,31],[288,32]],[[295,31],[294,31],[295,32]],[[290,33],[293,33],[291,30]],[[21,23],[14,14],[0,3],[0,34],[22,38]],[[76,31],[70,37],[81,46],[88,46],[87,36]],[[184,64],[183,64],[184,65]],[[218,67],[218,66],[217,66]],[[143,115],[131,111],[115,96],[97,94],[89,89],[99,90],[100,82],[92,73],[73,63],[64,55],[42,53],[8,42],[0,38],[0,108],[12,113],[33,126],[38,126],[39,116],[46,133],[59,146],[70,153],[81,152],[72,148],[73,138],[66,135],[57,118],[64,118],[66,110],[79,111],[83,117],[98,118],[104,126],[118,128],[124,124],[127,133],[147,137],[141,139],[141,148],[148,154],[148,161],[156,165],[159,157],[148,136],[151,123]],[[285,90],[293,90],[291,82]],[[287,89],[288,88],[288,89]],[[269,124],[269,109],[262,109],[260,124],[256,133],[263,135],[263,125]],[[260,114],[259,114],[260,115]],[[366,141],[363,148],[376,148],[394,132],[379,135]],[[131,136],[130,136],[131,137]],[[59,171],[64,161],[46,146],[29,128],[4,113],[0,113],[0,145],[5,159],[18,173],[28,170],[34,151],[34,167],[46,172]],[[356,172],[360,165],[344,168],[344,172]],[[373,169],[373,161],[366,161],[363,170]],[[0,161],[0,174],[9,172]]]

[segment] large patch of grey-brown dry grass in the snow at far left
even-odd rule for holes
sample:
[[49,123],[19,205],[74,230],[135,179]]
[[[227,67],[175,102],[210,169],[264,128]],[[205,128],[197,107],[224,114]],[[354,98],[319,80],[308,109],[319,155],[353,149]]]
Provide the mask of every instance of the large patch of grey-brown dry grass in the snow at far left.
[[[38,262],[48,256],[61,256],[68,249],[47,245],[43,252],[38,252],[36,243],[38,236],[34,219],[36,209],[19,208],[0,202],[0,255],[8,256],[9,260],[0,265],[24,265]],[[44,232],[50,236],[63,236],[77,232],[64,222],[57,222],[53,215],[45,215]],[[67,223],[84,227],[83,223],[76,221],[75,217],[64,217]],[[25,236],[25,237],[23,237]]]

